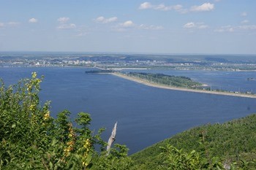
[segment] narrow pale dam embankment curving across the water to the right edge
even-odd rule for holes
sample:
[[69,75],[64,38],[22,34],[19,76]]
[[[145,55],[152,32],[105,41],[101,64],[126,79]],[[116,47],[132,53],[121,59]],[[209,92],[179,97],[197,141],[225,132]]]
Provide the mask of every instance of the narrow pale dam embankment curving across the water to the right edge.
[[241,93],[229,93],[229,92],[221,92],[221,91],[209,91],[209,90],[197,90],[197,89],[189,89],[189,88],[176,88],[176,87],[171,87],[167,85],[157,85],[151,82],[146,82],[143,80],[138,80],[134,77],[128,77],[124,74],[118,74],[118,73],[110,73],[116,77],[121,77],[126,80],[131,80],[133,82],[138,82],[143,85],[148,85],[154,88],[162,88],[162,89],[167,89],[167,90],[180,90],[180,91],[187,91],[187,92],[193,92],[193,93],[208,93],[208,94],[216,94],[216,95],[224,95],[224,96],[236,96],[236,97],[245,97],[245,98],[256,98],[256,95],[250,95],[250,94],[241,94]]

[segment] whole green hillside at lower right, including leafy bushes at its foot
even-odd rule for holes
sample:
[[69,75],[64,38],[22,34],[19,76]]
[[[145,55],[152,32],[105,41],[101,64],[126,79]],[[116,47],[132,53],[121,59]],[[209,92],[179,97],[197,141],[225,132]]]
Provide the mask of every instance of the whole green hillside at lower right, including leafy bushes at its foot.
[[213,165],[219,165],[219,169],[255,169],[255,130],[256,115],[202,125],[154,144],[131,158],[136,169],[172,169],[176,164],[187,166],[198,160],[203,166],[199,164],[197,169],[214,169]]

